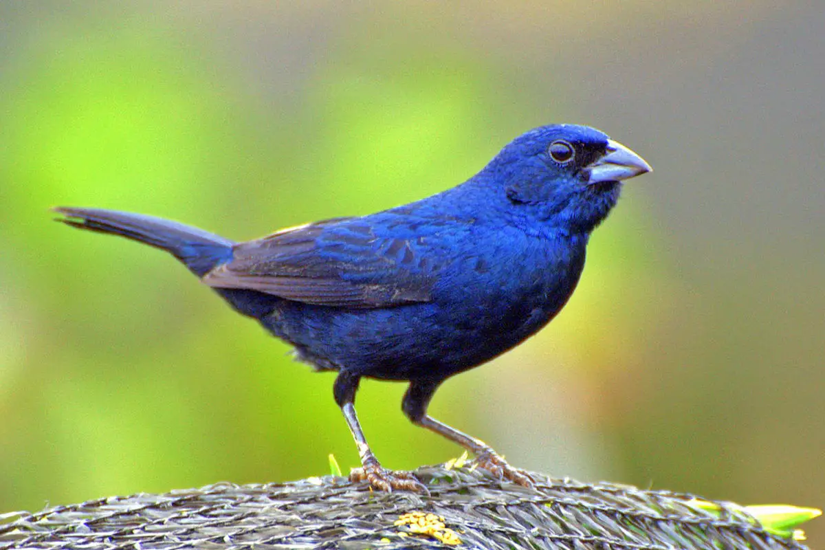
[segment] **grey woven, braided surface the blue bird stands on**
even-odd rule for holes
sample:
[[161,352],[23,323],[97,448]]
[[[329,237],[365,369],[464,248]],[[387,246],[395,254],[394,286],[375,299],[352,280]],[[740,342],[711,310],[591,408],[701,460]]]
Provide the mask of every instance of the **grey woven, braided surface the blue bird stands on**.
[[[430,496],[323,477],[5,514],[0,548],[805,548],[767,533],[731,503],[711,512],[667,491],[538,474],[535,489],[526,489],[468,468],[416,473]],[[421,513],[402,518],[411,512]]]

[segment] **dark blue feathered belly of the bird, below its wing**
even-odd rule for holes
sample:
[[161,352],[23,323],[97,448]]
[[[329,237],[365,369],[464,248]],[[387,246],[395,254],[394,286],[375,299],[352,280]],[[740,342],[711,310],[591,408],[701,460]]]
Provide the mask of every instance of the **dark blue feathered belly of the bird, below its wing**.
[[563,287],[537,284],[518,299],[486,293],[380,309],[284,301],[263,324],[320,369],[441,380],[493,359],[544,327],[573,290]]

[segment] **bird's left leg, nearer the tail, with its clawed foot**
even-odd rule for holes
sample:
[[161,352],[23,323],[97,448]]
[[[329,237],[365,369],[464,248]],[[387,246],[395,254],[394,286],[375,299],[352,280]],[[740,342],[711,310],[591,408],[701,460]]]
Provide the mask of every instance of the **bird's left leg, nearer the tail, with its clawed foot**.
[[361,423],[356,415],[355,398],[360,380],[360,376],[341,371],[335,379],[333,387],[335,401],[338,407],[341,407],[344,420],[347,421],[352,439],[355,440],[358,454],[361,457],[361,468],[352,470],[350,480],[353,482],[366,480],[370,483],[370,487],[375,487],[375,489],[381,491],[390,492],[399,489],[402,491],[428,492],[427,487],[424,487],[412,473],[387,470],[381,466],[378,458],[375,458],[370,445],[366,442],[364,431],[361,430]]

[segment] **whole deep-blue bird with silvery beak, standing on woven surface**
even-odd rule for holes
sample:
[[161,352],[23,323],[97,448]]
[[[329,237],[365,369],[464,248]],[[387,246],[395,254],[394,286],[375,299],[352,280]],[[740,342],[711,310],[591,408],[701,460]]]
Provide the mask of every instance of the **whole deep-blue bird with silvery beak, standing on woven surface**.
[[530,487],[527,472],[427,407],[447,378],[512,349],[561,311],[622,182],[651,170],[600,130],[544,125],[459,186],[247,242],[144,214],[54,211],[75,228],[170,252],[293,346],[297,360],[336,372],[333,397],[361,458],[352,480],[427,491],[411,472],[384,468],[367,444],[355,400],[361,378],[375,378],[408,383],[401,408],[414,424],[459,444],[499,479]]

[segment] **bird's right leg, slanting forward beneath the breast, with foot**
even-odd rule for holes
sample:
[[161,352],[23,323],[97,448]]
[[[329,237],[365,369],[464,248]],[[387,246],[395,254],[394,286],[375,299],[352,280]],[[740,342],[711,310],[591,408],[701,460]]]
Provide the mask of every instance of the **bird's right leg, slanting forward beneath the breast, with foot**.
[[455,430],[455,428],[451,428],[449,425],[437,421],[427,414],[427,405],[433,393],[436,392],[437,387],[438,383],[422,383],[418,381],[410,383],[402,402],[404,414],[406,414],[414,424],[434,431],[436,434],[460,444],[464,449],[474,454],[479,468],[484,468],[496,477],[508,479],[524,487],[533,487],[533,480],[530,476],[518,468],[513,468],[500,454],[497,454],[496,451],[493,450],[493,447],[484,443],[482,440]]

